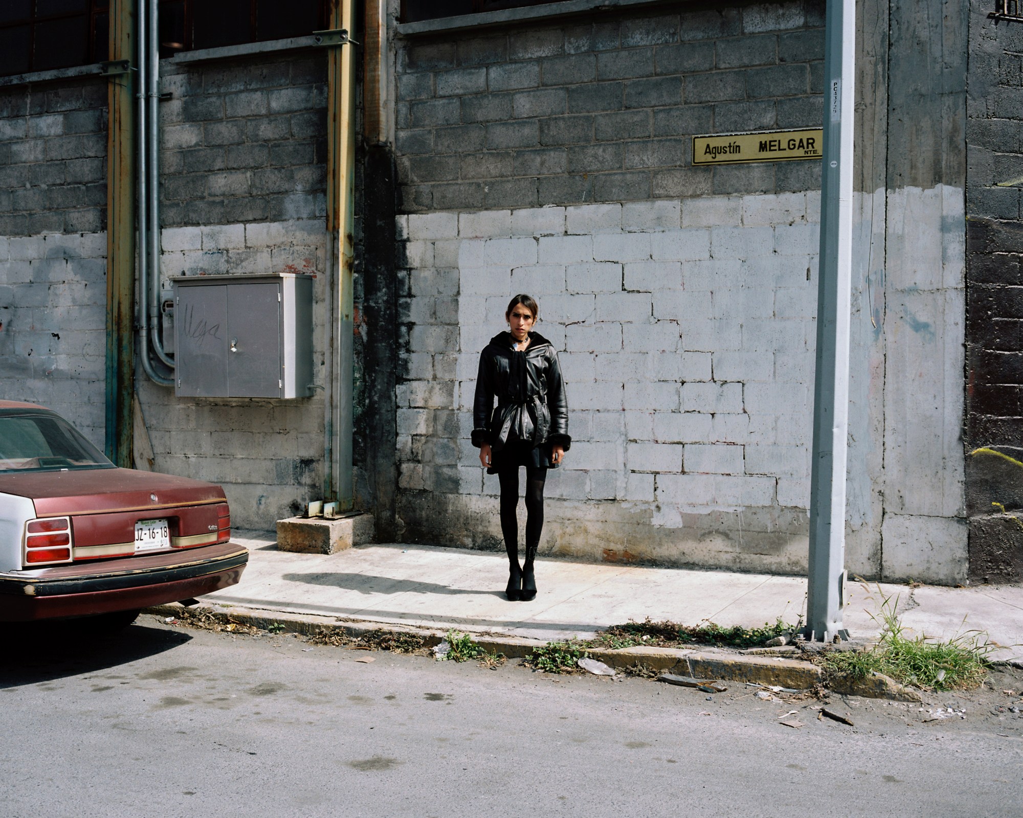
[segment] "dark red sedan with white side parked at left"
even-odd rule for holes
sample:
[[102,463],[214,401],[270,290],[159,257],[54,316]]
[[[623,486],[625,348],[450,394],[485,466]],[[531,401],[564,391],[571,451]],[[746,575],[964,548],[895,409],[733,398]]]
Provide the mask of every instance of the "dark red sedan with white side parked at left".
[[0,401],[0,621],[126,611],[234,585],[212,483],[118,468],[66,420]]

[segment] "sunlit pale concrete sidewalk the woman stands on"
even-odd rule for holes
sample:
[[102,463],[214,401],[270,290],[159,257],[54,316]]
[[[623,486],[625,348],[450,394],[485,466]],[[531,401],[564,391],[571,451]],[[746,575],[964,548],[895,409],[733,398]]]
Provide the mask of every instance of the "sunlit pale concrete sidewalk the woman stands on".
[[[795,622],[806,605],[800,577],[562,559],[537,560],[535,600],[508,602],[504,554],[424,545],[297,554],[278,551],[272,533],[233,539],[252,551],[241,582],[204,599],[250,610],[554,640],[648,617],[685,625]],[[947,639],[984,631],[999,646],[992,658],[1023,656],[1023,587],[850,583],[850,595],[845,625],[854,638],[876,635],[871,615],[882,597],[898,597],[902,624],[918,633]]]

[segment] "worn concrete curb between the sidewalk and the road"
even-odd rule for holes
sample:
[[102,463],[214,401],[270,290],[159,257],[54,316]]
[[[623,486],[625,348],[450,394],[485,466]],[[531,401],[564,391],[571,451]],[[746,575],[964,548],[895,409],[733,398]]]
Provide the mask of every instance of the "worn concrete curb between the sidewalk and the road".
[[[273,626],[279,633],[298,633],[306,636],[318,632],[340,632],[346,636],[360,637],[371,632],[395,634],[415,634],[424,638],[426,647],[434,647],[443,640],[436,631],[414,626],[397,625],[387,622],[343,621],[337,617],[321,617],[315,614],[287,614],[275,610],[260,610],[221,605],[185,606],[180,602],[155,605],[142,610],[159,617],[178,617],[182,610],[210,614],[225,623],[250,625],[263,630]],[[524,639],[499,634],[471,634],[474,641],[489,652],[500,652],[508,658],[525,658],[534,648],[547,644],[540,639]],[[807,690],[824,683],[824,673],[816,665],[803,660],[783,656],[751,655],[735,653],[714,648],[675,647],[623,647],[587,648],[590,657],[603,662],[615,670],[643,665],[658,673],[675,673],[708,681],[749,682],[764,686],[786,687]],[[831,689],[846,695],[868,698],[888,698],[897,701],[920,701],[920,693],[904,687],[893,679],[874,674],[865,679],[841,678],[830,681]]]

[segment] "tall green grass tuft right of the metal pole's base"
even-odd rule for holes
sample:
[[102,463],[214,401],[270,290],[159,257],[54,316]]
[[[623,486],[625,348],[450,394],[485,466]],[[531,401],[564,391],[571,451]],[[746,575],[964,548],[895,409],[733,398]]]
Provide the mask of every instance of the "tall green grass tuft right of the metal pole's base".
[[987,654],[993,649],[986,634],[966,631],[946,641],[906,636],[897,607],[897,596],[893,600],[882,595],[881,611],[874,617],[882,626],[877,644],[857,651],[826,651],[819,657],[825,670],[853,678],[883,673],[925,690],[971,689],[984,681]]

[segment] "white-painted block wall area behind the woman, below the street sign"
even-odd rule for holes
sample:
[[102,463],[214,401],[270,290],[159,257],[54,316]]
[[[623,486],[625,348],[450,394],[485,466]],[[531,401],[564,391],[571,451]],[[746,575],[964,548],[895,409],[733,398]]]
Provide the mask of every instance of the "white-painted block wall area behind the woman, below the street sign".
[[[789,193],[403,217],[421,287],[407,305],[399,434],[436,435],[432,412],[456,409],[458,491],[496,491],[466,445],[476,367],[509,297],[524,291],[560,351],[577,441],[564,472],[576,473],[552,478],[555,495],[704,512],[773,505],[781,491],[805,508],[817,240],[808,214],[818,209],[816,194]],[[457,315],[419,323],[436,316],[434,279],[455,274]],[[441,355],[457,356],[450,387],[436,373]],[[424,469],[441,465],[453,463],[406,460],[403,486],[436,488]],[[682,475],[708,476],[686,491]]]

